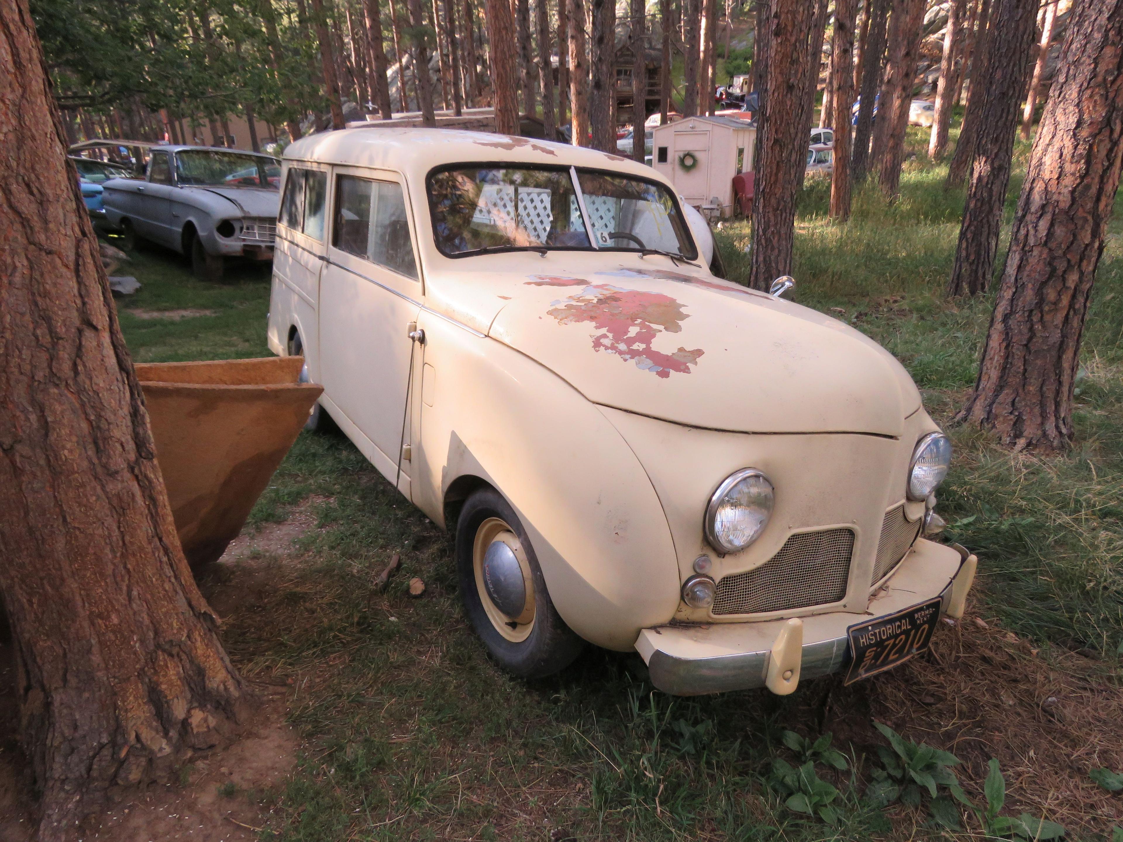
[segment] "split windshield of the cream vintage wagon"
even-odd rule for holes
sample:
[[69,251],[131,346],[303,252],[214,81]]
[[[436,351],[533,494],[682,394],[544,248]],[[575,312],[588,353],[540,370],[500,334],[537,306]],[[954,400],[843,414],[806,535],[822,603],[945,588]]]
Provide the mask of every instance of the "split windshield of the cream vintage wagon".
[[579,190],[568,170],[545,167],[432,173],[429,208],[437,248],[448,257],[594,247],[695,257],[674,198],[661,184],[592,171],[577,171],[577,182]]

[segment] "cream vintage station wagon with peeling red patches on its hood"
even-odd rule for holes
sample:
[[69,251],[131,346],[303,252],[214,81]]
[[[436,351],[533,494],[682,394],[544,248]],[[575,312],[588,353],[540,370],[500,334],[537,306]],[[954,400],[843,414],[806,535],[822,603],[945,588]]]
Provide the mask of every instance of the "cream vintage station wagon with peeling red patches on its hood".
[[455,530],[467,615],[512,672],[590,641],[667,693],[784,694],[887,669],[962,613],[975,557],[930,540],[950,445],[909,375],[716,277],[649,167],[331,131],[286,149],[279,221],[270,347]]

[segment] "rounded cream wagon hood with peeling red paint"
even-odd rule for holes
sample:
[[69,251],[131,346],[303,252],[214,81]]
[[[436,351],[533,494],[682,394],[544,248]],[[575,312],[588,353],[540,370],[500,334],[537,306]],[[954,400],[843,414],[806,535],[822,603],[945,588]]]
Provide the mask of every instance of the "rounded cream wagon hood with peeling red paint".
[[713,276],[622,265],[489,280],[505,302],[489,335],[605,406],[737,432],[896,437],[921,405],[862,333]]

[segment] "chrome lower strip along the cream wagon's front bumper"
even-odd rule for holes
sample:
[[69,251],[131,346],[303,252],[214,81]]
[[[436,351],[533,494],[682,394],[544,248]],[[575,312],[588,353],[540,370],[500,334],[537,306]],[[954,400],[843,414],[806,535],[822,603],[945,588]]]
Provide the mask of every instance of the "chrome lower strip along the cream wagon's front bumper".
[[[959,575],[958,573],[956,574]],[[951,601],[955,578],[940,592],[940,616]],[[855,614],[856,621],[860,614]],[[655,650],[647,668],[651,684],[672,696],[703,696],[730,690],[751,690],[765,686],[770,650],[720,655],[714,658],[676,658]],[[800,680],[820,678],[840,671],[850,660],[850,637],[819,640],[803,647]]]

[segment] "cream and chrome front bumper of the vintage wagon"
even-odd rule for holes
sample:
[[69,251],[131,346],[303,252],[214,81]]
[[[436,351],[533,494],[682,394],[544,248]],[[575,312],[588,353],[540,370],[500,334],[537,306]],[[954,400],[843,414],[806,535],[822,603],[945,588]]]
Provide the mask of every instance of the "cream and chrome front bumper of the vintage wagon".
[[[962,600],[975,575],[975,557],[958,544],[952,548],[921,539],[888,583],[870,600],[865,614],[832,612],[802,617],[803,648],[798,680],[842,669],[850,660],[847,629],[876,620],[937,596],[941,614]],[[651,683],[675,696],[764,687],[773,648],[788,620],[757,623],[664,625],[645,629],[636,649],[647,661]],[[792,687],[794,689],[794,685]],[[785,690],[791,692],[791,690]]]

